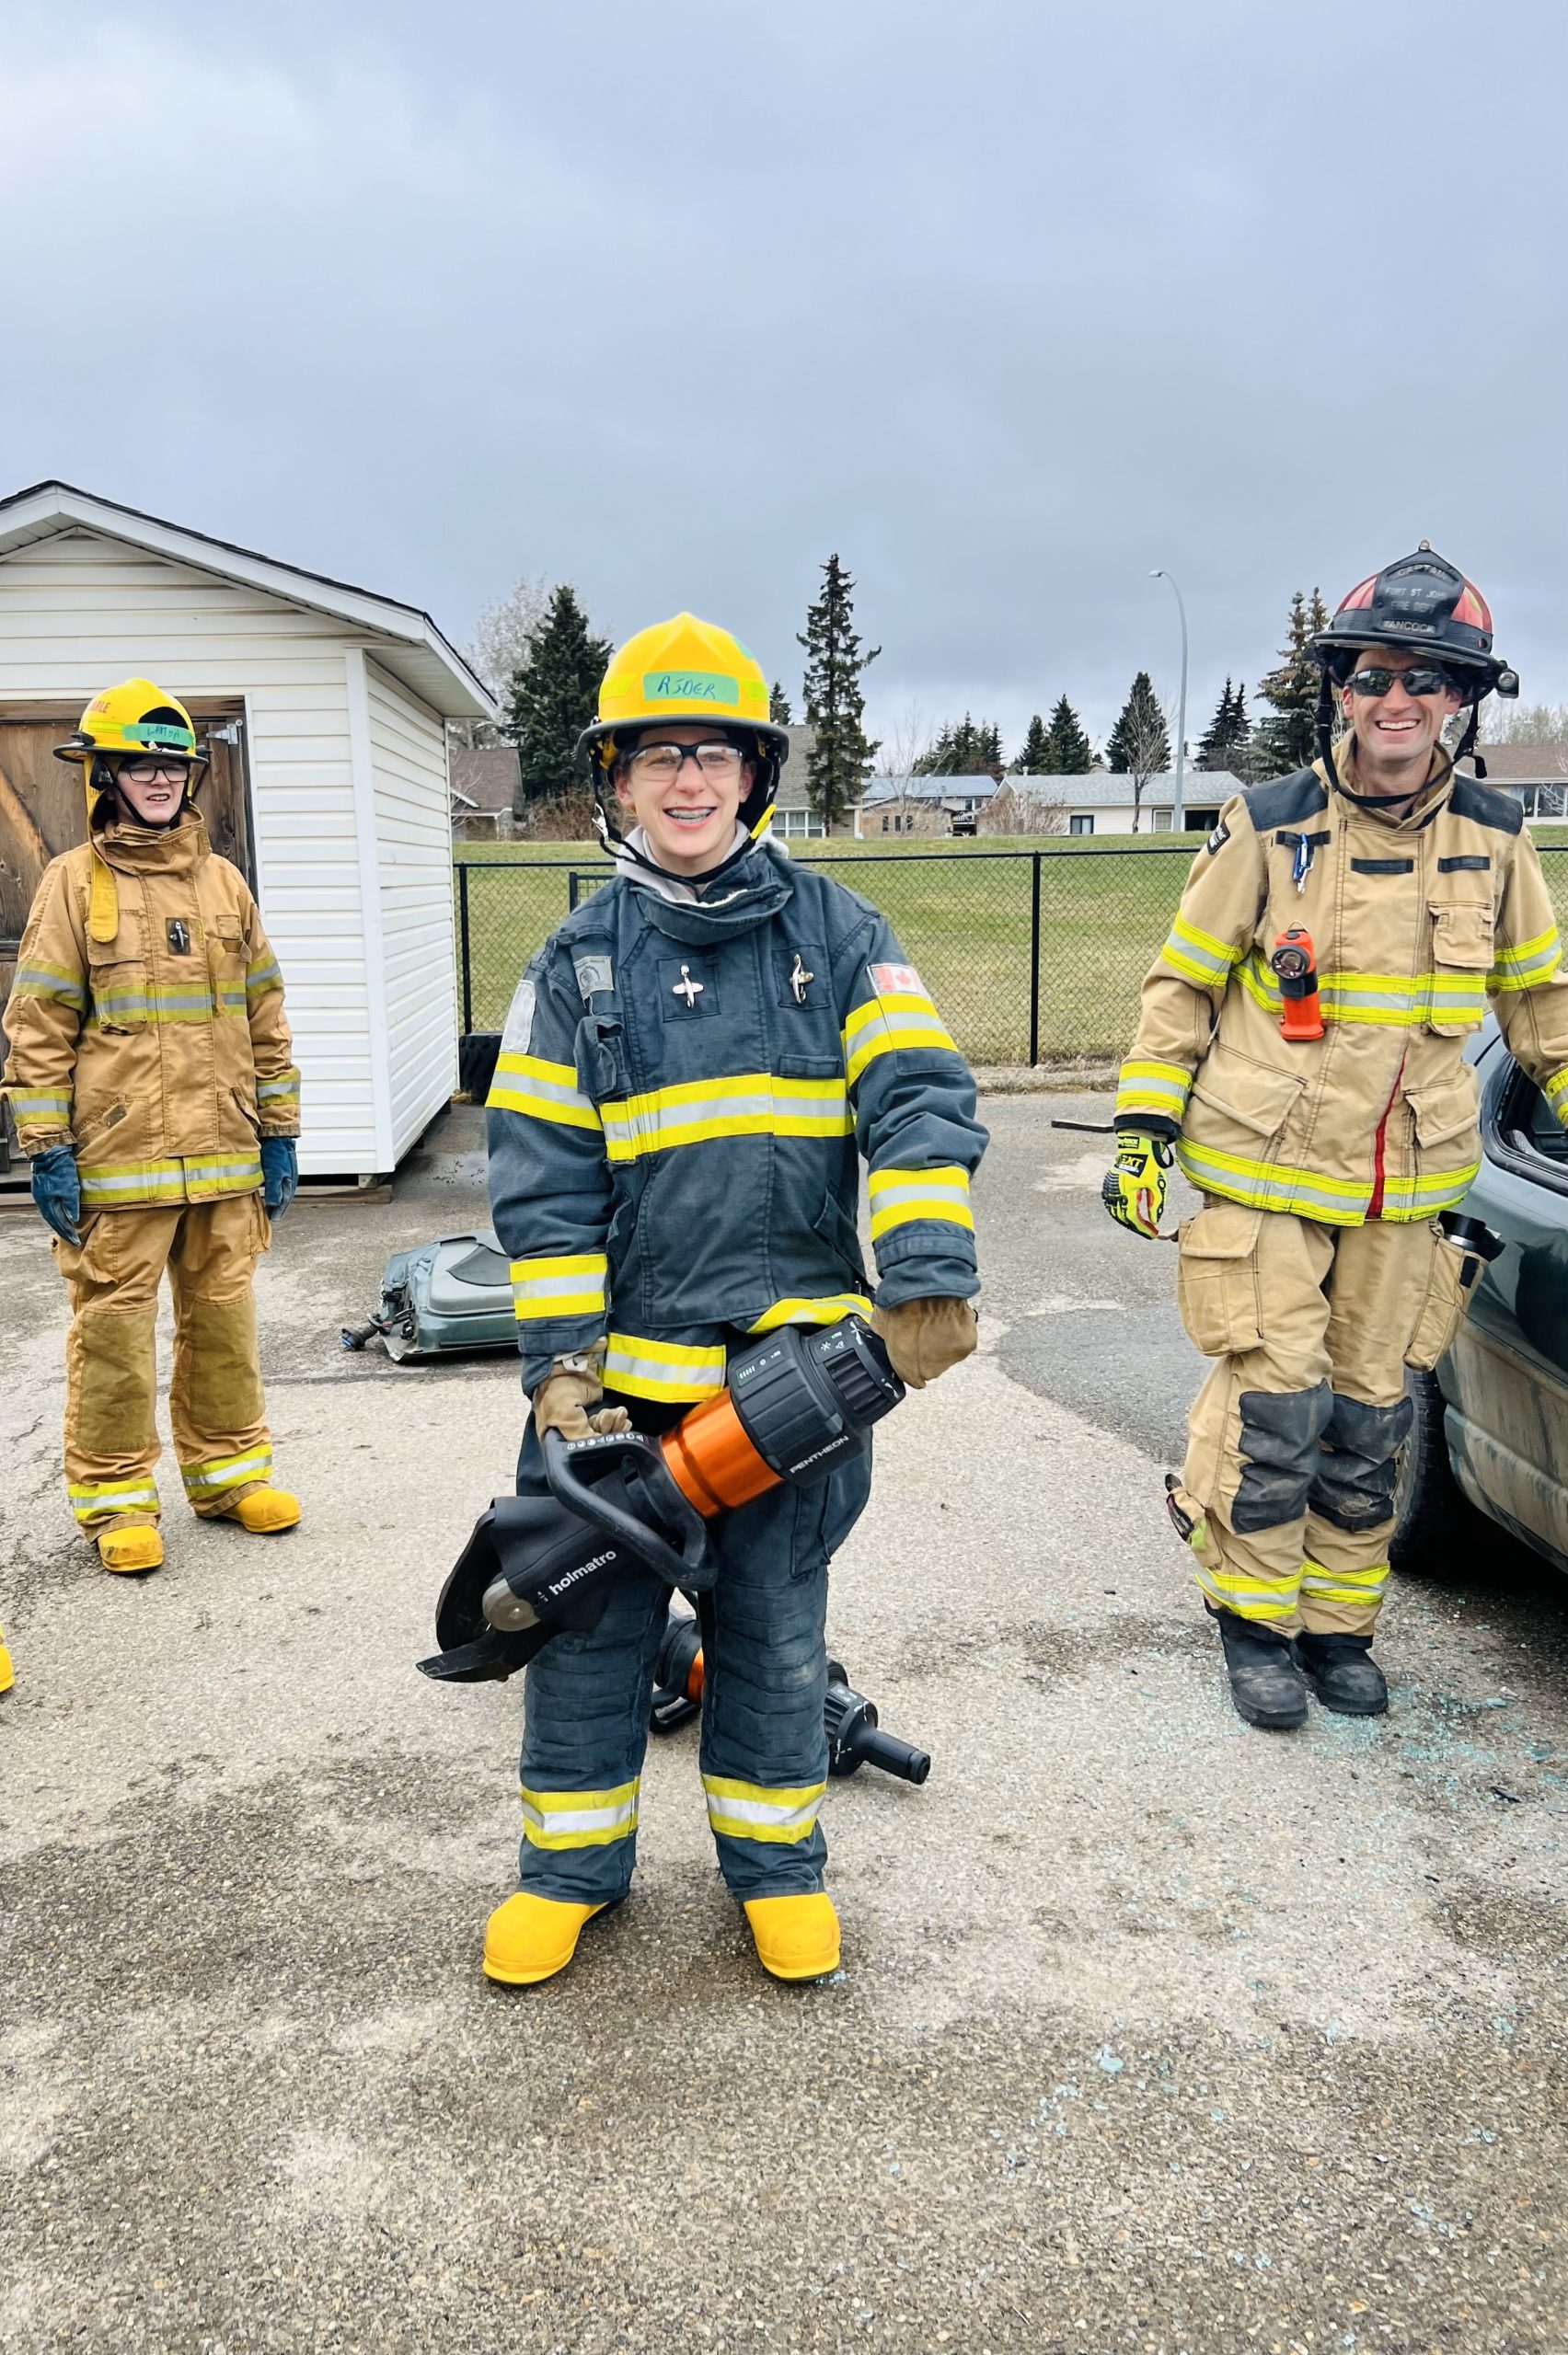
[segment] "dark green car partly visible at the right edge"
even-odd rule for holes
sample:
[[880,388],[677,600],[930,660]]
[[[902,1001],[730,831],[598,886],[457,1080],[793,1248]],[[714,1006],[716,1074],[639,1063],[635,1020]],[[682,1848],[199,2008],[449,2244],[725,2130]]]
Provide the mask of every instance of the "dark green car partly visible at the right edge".
[[[1436,1373],[1410,1373],[1398,1568],[1453,1554],[1464,1502],[1568,1571],[1568,1130],[1495,1024],[1479,1034],[1481,1175],[1464,1213],[1502,1236]],[[1455,1519],[1457,1517],[1457,1519]]]

